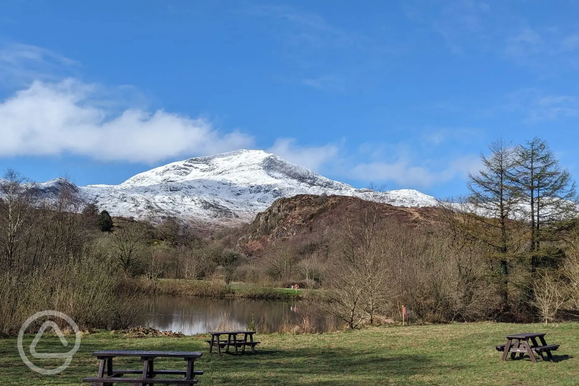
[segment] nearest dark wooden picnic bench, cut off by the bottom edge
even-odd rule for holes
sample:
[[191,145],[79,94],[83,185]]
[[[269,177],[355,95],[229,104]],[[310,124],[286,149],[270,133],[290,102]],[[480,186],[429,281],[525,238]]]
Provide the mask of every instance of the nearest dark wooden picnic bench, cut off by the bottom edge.
[[[130,383],[131,386],[146,386],[155,384],[195,385],[196,375],[203,375],[202,371],[194,370],[195,359],[201,358],[203,352],[184,351],[125,351],[102,350],[93,352],[93,356],[101,361],[96,377],[84,378],[83,382],[90,382],[92,386],[112,386],[113,383]],[[113,369],[112,359],[116,356],[133,356],[143,361],[142,370]],[[186,370],[155,370],[155,358],[183,358],[187,362]],[[123,377],[124,374],[140,374],[140,377]],[[181,375],[182,378],[155,378],[157,375]]]

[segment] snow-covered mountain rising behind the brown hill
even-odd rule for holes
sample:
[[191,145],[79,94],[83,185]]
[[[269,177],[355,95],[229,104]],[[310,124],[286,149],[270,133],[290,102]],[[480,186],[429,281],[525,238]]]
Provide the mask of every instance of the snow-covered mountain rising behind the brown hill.
[[[36,187],[49,193],[59,183],[57,179]],[[277,198],[296,194],[358,196],[406,207],[437,204],[434,197],[412,189],[356,189],[262,150],[191,158],[142,172],[120,185],[78,189],[112,215],[153,221],[174,216],[222,226],[251,221]]]

